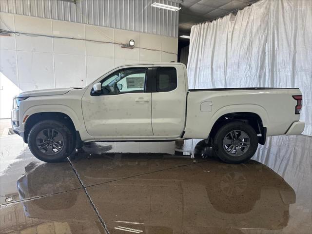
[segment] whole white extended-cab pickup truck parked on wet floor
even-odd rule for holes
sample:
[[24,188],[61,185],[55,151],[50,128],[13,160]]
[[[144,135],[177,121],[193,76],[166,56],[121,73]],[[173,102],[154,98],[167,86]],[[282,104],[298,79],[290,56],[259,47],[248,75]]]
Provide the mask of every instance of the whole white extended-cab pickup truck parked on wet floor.
[[115,68],[84,88],[23,92],[12,128],[42,161],[89,141],[205,139],[223,161],[250,159],[267,136],[301,134],[302,94],[289,88],[189,90],[182,63]]

